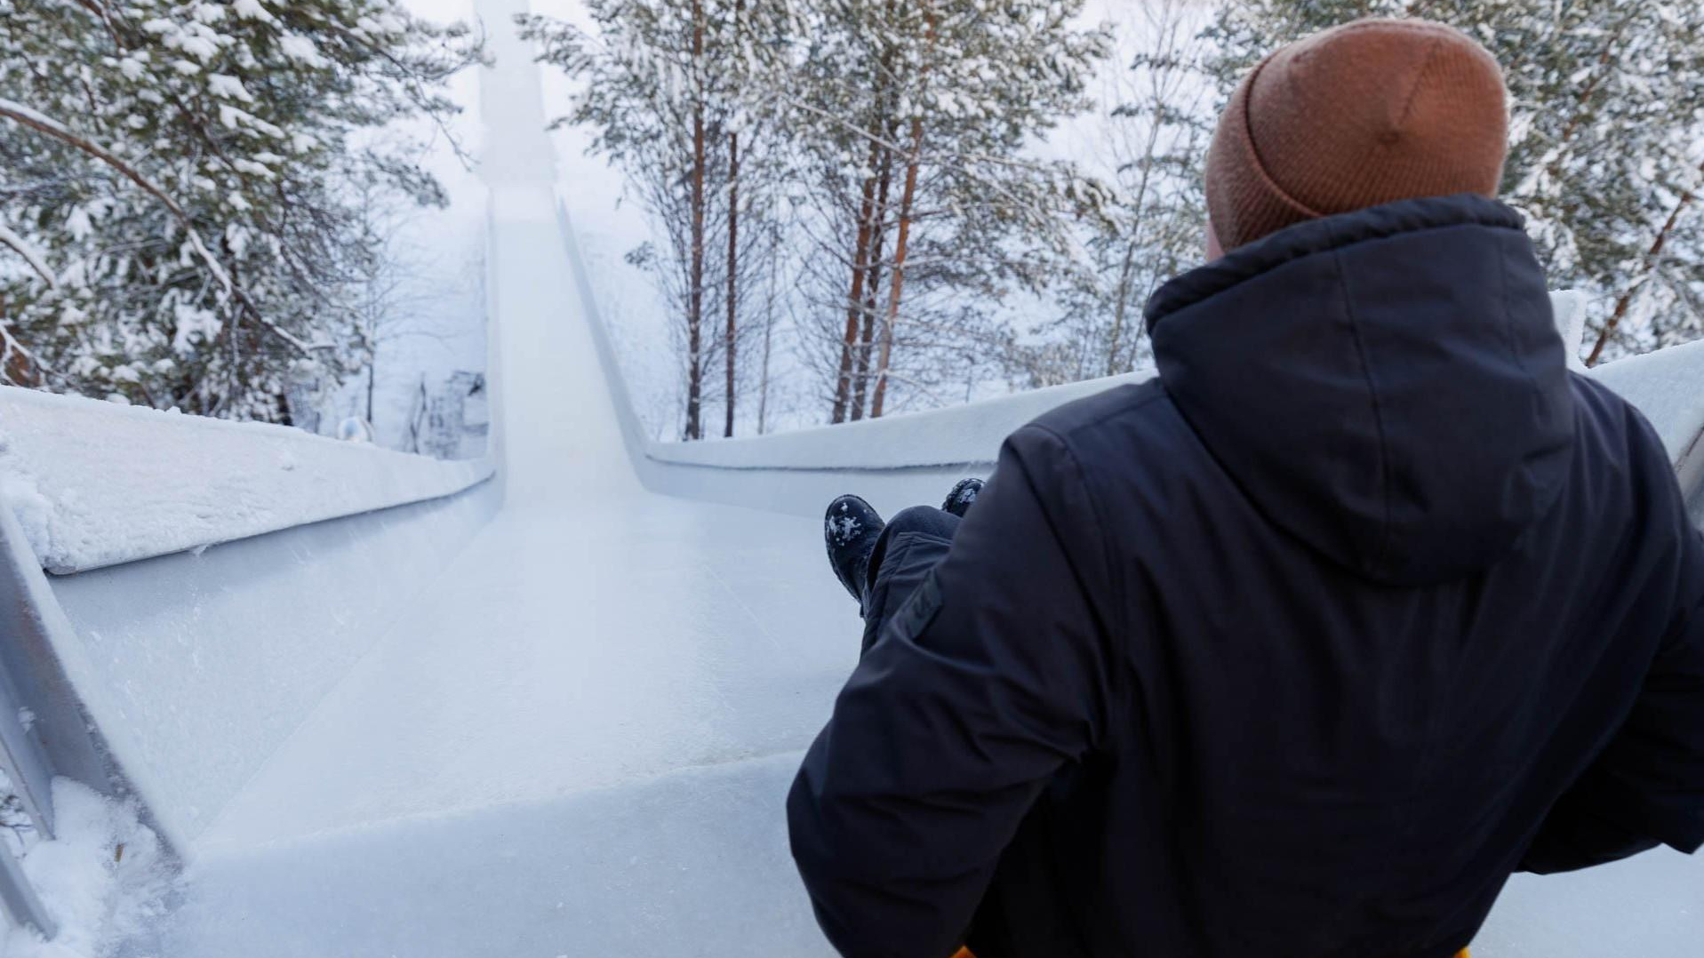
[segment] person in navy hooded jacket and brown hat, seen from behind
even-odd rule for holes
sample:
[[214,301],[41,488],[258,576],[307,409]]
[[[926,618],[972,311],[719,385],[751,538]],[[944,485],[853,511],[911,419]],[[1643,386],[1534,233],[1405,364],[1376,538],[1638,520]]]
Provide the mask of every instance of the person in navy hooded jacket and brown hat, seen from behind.
[[787,818],[843,955],[1445,958],[1513,871],[1704,842],[1704,544],[1564,368],[1503,97],[1431,24],[1280,49],[1159,377],[963,520],[837,499],[869,641]]

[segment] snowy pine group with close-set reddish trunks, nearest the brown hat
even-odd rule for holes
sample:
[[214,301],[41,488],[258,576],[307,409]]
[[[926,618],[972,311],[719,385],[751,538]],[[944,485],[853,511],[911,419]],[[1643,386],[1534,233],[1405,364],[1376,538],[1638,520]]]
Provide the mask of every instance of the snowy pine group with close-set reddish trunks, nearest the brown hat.
[[1087,107],[1108,36],[1080,0],[813,0],[792,111],[813,211],[806,295],[832,421],[881,416],[893,384],[927,399],[999,343],[1014,290],[1053,281],[1070,222],[1102,198],[1033,138]]

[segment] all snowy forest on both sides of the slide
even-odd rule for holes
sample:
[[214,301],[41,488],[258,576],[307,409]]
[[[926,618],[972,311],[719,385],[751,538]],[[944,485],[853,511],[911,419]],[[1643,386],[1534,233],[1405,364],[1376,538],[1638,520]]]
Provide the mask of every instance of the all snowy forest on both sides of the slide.
[[[651,240],[683,438],[1137,370],[1200,263],[1232,84],[1353,17],[1508,75],[1503,196],[1585,356],[1704,331],[1704,5],[1668,0],[584,0],[523,17]],[[1104,22],[1102,22],[1104,20]],[[504,26],[506,27],[506,26]],[[397,0],[0,0],[0,378],[288,421],[370,378],[397,210],[441,205],[474,29]],[[452,138],[453,143],[453,138]],[[377,305],[375,305],[377,303]]]

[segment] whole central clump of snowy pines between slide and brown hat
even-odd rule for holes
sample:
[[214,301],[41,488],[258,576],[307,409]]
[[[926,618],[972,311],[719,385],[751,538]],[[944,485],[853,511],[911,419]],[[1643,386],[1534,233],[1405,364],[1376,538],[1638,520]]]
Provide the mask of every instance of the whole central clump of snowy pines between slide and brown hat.
[[[833,421],[879,416],[893,384],[927,401],[966,363],[988,366],[1002,300],[1056,280],[1074,218],[1104,199],[1070,164],[1028,155],[1085,107],[1106,49],[1082,0],[586,10],[590,31],[521,24],[579,80],[562,121],[595,131],[656,227],[630,261],[680,317],[687,438],[717,389],[724,435],[743,392],[767,419],[777,312],[803,319],[796,344],[825,373]],[[772,290],[777,274],[791,288]]]

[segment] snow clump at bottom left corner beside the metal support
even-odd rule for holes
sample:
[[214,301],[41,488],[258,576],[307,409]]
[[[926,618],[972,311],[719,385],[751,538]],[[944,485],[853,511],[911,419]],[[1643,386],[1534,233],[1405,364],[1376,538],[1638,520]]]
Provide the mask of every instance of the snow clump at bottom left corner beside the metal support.
[[31,929],[0,939],[7,958],[95,958],[165,914],[172,863],[160,839],[140,822],[133,801],[114,801],[70,779],[53,781],[60,835],[36,844],[24,874],[41,895],[60,934],[43,941]]

